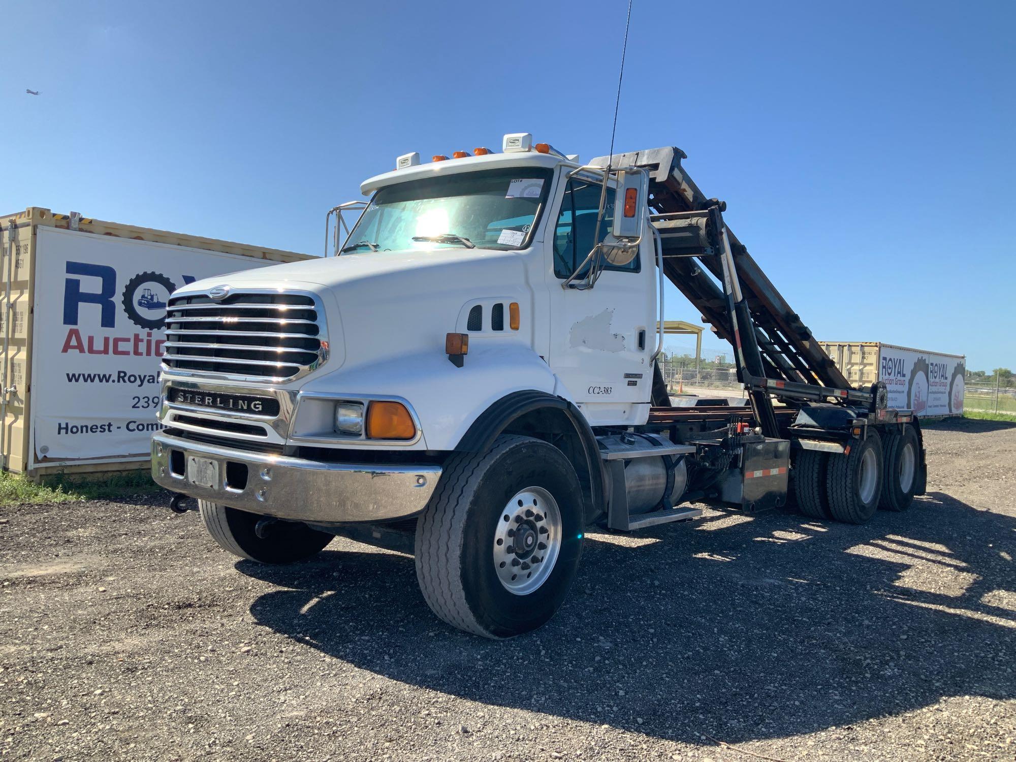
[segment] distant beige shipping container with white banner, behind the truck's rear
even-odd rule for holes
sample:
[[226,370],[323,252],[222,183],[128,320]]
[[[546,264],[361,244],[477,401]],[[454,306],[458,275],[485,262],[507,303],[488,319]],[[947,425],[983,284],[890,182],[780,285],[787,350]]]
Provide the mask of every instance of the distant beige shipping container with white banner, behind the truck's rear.
[[820,341],[854,386],[884,381],[889,406],[917,416],[962,416],[966,357],[881,341]]

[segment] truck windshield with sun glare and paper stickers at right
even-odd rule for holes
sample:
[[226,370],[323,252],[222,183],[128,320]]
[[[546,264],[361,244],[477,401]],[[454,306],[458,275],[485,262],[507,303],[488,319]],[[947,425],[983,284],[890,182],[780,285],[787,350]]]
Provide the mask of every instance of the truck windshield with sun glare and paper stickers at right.
[[516,167],[382,188],[353,229],[342,253],[521,248],[546,205],[552,172]]

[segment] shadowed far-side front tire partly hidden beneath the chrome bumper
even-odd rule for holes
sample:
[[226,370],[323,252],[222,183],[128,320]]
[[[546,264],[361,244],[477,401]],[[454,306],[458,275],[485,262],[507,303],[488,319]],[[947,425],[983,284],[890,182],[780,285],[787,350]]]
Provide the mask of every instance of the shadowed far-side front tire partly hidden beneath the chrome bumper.
[[259,564],[303,561],[320,553],[334,536],[307,524],[277,521],[262,538],[255,533],[254,527],[264,516],[206,500],[199,500],[198,508],[205,528],[216,543],[234,556]]

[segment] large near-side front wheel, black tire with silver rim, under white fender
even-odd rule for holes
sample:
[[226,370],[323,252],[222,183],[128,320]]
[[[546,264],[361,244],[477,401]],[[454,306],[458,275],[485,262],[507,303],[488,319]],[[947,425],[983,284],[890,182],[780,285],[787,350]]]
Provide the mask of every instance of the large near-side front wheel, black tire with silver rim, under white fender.
[[568,594],[583,533],[581,488],[564,454],[531,437],[499,437],[489,452],[445,465],[417,525],[420,589],[460,630],[535,630]]

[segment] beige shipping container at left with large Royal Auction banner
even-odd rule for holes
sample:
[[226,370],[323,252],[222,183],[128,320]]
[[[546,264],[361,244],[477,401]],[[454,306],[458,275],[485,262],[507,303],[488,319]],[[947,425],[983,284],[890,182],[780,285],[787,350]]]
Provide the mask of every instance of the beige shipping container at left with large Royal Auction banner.
[[308,258],[38,206],[0,216],[3,469],[147,467],[169,294]]

